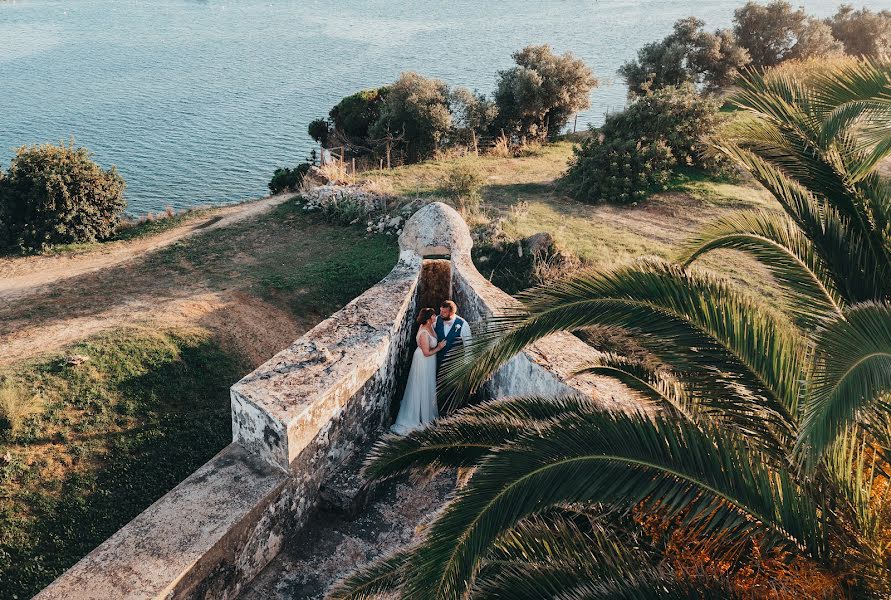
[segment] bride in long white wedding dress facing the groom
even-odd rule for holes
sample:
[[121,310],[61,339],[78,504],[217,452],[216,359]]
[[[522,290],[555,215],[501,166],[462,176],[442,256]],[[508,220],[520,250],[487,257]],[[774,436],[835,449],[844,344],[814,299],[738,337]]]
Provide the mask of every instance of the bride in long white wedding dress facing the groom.
[[443,349],[445,341],[437,341],[436,332],[433,331],[435,321],[436,311],[432,308],[425,308],[418,315],[421,325],[415,337],[418,349],[411,360],[399,416],[390,427],[393,433],[406,435],[439,416],[436,407],[436,353]]

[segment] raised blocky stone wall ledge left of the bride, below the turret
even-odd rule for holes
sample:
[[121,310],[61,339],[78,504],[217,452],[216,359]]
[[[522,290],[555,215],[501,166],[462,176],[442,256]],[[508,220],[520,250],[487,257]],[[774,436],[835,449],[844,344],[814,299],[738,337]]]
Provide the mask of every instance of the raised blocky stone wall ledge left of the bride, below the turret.
[[284,470],[392,359],[413,315],[421,261],[387,277],[232,386],[232,435]]

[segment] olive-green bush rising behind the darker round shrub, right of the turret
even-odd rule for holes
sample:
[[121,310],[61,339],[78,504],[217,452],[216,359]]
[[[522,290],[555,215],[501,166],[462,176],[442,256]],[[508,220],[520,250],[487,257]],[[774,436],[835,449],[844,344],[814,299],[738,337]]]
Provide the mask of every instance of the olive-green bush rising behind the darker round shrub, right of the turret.
[[720,108],[718,100],[700,96],[690,84],[664,87],[608,116],[600,133],[644,145],[662,142],[680,165],[720,170],[718,159],[704,154],[705,141],[724,122]]

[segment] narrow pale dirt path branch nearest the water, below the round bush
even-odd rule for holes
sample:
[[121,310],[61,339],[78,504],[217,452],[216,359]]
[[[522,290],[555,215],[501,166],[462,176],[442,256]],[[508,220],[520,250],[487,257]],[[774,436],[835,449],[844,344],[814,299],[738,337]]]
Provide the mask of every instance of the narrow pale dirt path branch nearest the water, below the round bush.
[[278,194],[227,206],[158,235],[132,241],[111,242],[83,253],[2,258],[0,302],[21,299],[62,280],[119,266],[196,233],[220,229],[256,217],[292,196],[293,194]]

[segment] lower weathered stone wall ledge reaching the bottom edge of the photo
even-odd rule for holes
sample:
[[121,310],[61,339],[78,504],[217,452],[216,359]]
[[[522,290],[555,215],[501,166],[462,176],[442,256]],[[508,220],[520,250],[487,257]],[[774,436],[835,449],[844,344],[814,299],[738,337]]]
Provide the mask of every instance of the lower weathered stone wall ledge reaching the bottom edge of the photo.
[[183,595],[242,543],[285,480],[280,470],[230,444],[35,600]]

